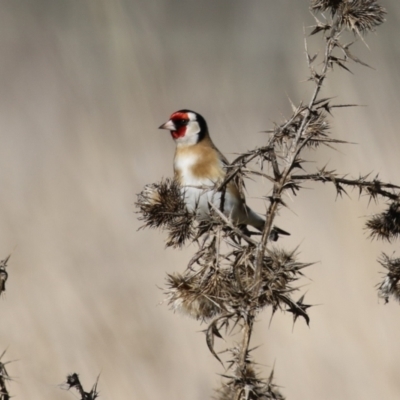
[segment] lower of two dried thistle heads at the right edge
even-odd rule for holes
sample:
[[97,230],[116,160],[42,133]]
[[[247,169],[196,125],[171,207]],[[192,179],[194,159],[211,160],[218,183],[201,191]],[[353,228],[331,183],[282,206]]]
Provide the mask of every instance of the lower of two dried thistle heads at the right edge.
[[382,283],[378,286],[379,297],[385,299],[386,303],[389,302],[390,296],[400,302],[400,258],[389,257],[382,253],[378,261],[387,269]]

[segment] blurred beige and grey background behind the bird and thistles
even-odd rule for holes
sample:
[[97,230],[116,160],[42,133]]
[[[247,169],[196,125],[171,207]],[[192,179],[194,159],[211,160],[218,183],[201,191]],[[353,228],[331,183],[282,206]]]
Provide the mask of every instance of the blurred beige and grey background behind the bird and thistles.
[[[336,138],[357,143],[309,152],[310,169],[400,182],[400,10],[353,53],[375,70],[335,69],[323,96]],[[265,143],[274,122],[308,101],[307,1],[13,0],[0,3],[0,259],[12,253],[0,299],[0,351],[18,399],[71,399],[57,386],[100,376],[102,399],[207,399],[221,366],[200,325],[162,303],[165,274],[194,248],[164,249],[138,231],[136,194],[172,175],[174,143],[157,127],[180,108],[201,113],[229,159]],[[350,41],[350,40],[349,40]],[[310,39],[310,48],[322,41]],[[381,251],[366,217],[383,209],[305,185],[277,224],[279,242],[315,261],[301,292],[311,325],[270,311],[253,345],[263,374],[301,399],[396,399],[400,306],[378,300]],[[265,210],[268,182],[248,184]],[[300,297],[299,292],[298,297]],[[297,298],[295,296],[295,298]],[[223,343],[220,349],[223,348]]]

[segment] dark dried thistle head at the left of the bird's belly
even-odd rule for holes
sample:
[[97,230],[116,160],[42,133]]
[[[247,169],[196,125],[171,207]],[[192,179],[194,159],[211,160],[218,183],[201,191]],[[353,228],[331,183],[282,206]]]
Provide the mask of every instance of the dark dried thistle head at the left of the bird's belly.
[[146,185],[136,206],[144,227],[168,231],[167,246],[180,247],[193,238],[195,216],[187,211],[181,187],[174,179]]

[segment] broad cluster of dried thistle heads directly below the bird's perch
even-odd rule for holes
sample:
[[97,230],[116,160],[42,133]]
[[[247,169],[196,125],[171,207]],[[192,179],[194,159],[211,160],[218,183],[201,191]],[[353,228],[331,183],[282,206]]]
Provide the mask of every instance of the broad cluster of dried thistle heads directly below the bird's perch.
[[[198,268],[191,265],[183,275],[168,276],[169,305],[201,320],[227,312],[240,315],[244,310],[257,312],[266,306],[274,310],[287,306],[295,319],[302,316],[308,323],[306,309],[309,306],[293,301],[291,293],[296,290],[293,282],[310,264],[296,261],[295,252],[268,250],[263,258],[260,293],[255,296],[256,251],[252,245],[238,246],[229,256],[215,247],[200,250],[194,257]],[[226,265],[222,260],[227,261]]]

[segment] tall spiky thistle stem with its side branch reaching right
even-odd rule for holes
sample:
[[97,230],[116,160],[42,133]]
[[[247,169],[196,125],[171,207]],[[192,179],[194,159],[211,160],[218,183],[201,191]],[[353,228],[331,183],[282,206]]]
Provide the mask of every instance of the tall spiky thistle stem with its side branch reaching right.
[[[317,3],[319,6],[317,6]],[[309,79],[315,84],[311,99],[307,106],[303,106],[301,104],[295,108],[293,115],[288,121],[280,126],[277,126],[274,130],[269,131],[271,133],[271,137],[264,149],[258,149],[258,151],[253,153],[249,152],[245,157],[240,157],[239,159],[235,160],[236,163],[240,162],[240,166],[236,167],[236,169],[231,172],[228,178],[232,179],[234,174],[243,172],[247,166],[247,163],[256,158],[256,156],[261,159],[261,164],[264,160],[266,160],[272,165],[273,176],[268,176],[269,180],[273,183],[272,195],[269,197],[270,204],[266,213],[265,227],[261,242],[258,244],[257,248],[257,269],[255,274],[256,283],[254,286],[255,296],[261,289],[260,274],[262,270],[262,257],[267,249],[273,221],[279,207],[285,206],[282,197],[285,191],[288,189],[294,192],[299,190],[299,181],[302,182],[307,179],[323,182],[331,181],[335,184],[338,193],[343,191],[342,185],[346,184],[358,186],[360,190],[367,190],[371,196],[377,196],[380,194],[393,200],[398,198],[398,194],[389,193],[384,191],[382,188],[389,187],[391,189],[399,189],[399,187],[395,185],[384,184],[377,180],[374,182],[367,182],[364,178],[358,181],[350,181],[344,178],[337,178],[334,176],[333,172],[328,173],[324,170],[319,171],[319,174],[313,175],[293,175],[293,171],[295,169],[301,168],[302,160],[300,158],[300,153],[306,146],[317,146],[319,144],[329,145],[331,143],[340,142],[327,137],[329,124],[326,120],[326,113],[324,110],[330,112],[332,106],[330,105],[329,99],[319,99],[319,94],[328,72],[333,69],[334,65],[338,65],[347,70],[345,63],[349,58],[353,61],[365,64],[358,58],[352,56],[348,50],[348,46],[345,46],[340,42],[340,37],[346,28],[356,31],[359,34],[360,32],[373,29],[374,26],[383,22],[384,11],[376,4],[376,2],[374,2],[374,7],[368,8],[370,13],[366,18],[366,14],[364,12],[364,3],[352,2],[351,7],[349,7],[348,2],[346,1],[311,2],[312,9],[330,9],[332,14],[332,21],[330,23],[321,24],[316,19],[317,26],[312,31],[312,34],[322,31],[326,39],[324,58],[322,60],[322,67],[319,71],[314,68],[314,62],[317,56],[311,56],[308,53],[306,42],[307,62],[311,72]],[[373,18],[373,12],[375,12],[375,19]],[[334,54],[336,49],[342,50],[344,53],[344,58],[340,58]],[[281,163],[277,162],[279,159],[282,160]],[[249,173],[248,170],[246,170],[246,172]],[[258,175],[259,172],[255,172],[255,174]],[[241,351],[238,358],[238,368],[241,371],[245,370],[246,368],[246,359],[248,357],[248,349],[255,315],[255,310],[251,310],[247,319],[245,320]],[[241,398],[240,396],[241,394],[238,391],[238,394],[235,398],[239,400]]]

